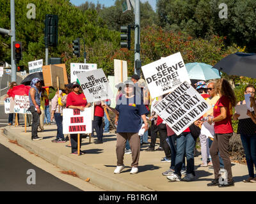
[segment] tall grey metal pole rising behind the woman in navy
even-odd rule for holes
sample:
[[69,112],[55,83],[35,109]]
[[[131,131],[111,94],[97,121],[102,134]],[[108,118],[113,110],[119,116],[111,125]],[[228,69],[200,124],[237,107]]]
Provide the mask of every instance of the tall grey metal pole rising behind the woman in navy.
[[136,50],[137,45],[140,45],[140,0],[135,0],[135,29],[134,29],[134,74],[140,76],[140,69],[135,68],[136,60],[140,60],[140,51]]

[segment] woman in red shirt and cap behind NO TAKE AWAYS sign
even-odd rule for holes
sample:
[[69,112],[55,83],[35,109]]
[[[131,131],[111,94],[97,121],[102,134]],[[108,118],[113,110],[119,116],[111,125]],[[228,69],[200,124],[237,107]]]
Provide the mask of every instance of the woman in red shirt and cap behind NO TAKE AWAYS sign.
[[[77,82],[72,83],[72,92],[70,92],[67,96],[67,108],[72,109],[79,109],[81,111],[84,110],[84,108],[89,107],[91,104],[87,103],[86,98],[83,94],[79,91],[80,85]],[[81,148],[81,140],[80,137],[80,147]],[[77,154],[77,134],[70,134],[70,142],[71,142],[71,154]]]

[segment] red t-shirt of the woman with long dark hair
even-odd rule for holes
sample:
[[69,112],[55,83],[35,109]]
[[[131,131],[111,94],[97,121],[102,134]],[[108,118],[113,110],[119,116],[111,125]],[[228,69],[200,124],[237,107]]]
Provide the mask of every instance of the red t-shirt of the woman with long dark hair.
[[214,122],[214,132],[218,134],[233,133],[232,128],[232,105],[227,96],[221,96],[213,108],[213,117],[220,115],[220,108],[227,107],[227,117],[219,122]]

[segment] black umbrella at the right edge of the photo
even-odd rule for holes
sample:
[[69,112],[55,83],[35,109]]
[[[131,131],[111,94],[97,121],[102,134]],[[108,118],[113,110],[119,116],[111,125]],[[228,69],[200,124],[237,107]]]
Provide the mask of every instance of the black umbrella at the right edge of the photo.
[[213,66],[228,75],[256,78],[256,54],[236,52]]

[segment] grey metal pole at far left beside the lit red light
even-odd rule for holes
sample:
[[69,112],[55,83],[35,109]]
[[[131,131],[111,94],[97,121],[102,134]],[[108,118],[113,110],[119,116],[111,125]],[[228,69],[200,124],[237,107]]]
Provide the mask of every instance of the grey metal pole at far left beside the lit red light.
[[15,36],[15,1],[10,0],[11,4],[11,55],[12,55],[12,82],[16,82],[16,62],[13,56],[13,41],[16,40]]

